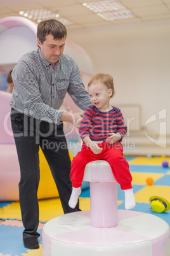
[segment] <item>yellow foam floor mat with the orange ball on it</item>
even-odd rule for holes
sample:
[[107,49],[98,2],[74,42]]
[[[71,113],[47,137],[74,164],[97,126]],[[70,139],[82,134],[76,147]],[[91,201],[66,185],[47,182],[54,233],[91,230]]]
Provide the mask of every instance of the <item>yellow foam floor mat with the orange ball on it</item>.
[[135,173],[135,172],[131,172],[133,181],[132,184],[136,184],[136,185],[147,185],[147,178],[152,178],[154,181],[158,180],[159,178],[161,178],[162,176],[164,176],[164,174],[162,173]]

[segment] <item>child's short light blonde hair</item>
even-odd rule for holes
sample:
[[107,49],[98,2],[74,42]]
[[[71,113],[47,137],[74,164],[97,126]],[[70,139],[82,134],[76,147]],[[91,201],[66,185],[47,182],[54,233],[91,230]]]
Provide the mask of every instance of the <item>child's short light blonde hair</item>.
[[112,78],[112,76],[110,76],[109,74],[103,74],[103,73],[96,74],[89,81],[88,88],[92,85],[92,83],[96,84],[98,82],[105,85],[108,89],[112,89],[112,96],[110,96],[110,97],[114,96],[115,89],[114,89],[114,79]]

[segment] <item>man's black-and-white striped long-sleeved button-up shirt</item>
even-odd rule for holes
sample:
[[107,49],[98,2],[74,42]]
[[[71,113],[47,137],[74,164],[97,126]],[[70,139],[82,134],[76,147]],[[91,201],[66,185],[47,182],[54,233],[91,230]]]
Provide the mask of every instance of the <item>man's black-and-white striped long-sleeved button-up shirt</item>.
[[23,55],[12,72],[13,96],[10,105],[17,111],[46,122],[60,124],[65,94],[68,92],[82,110],[91,104],[74,59],[62,54],[55,68],[41,50]]

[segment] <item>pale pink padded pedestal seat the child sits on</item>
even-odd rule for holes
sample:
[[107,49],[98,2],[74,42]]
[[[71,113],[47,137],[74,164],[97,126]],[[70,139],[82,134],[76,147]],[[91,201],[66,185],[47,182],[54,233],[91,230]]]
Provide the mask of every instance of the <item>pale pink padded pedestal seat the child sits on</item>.
[[90,182],[91,225],[115,227],[117,218],[117,183],[110,164],[104,160],[89,162],[84,181]]

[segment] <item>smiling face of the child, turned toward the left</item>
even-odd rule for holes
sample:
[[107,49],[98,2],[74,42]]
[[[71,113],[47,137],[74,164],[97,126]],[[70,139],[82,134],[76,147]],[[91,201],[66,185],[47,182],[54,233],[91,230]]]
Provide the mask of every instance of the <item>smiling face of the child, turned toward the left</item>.
[[112,95],[112,89],[108,89],[102,83],[92,83],[88,87],[91,103],[100,111],[107,111],[110,106],[110,96]]

